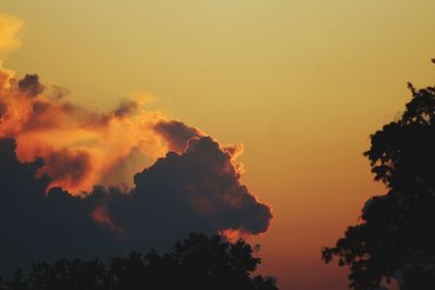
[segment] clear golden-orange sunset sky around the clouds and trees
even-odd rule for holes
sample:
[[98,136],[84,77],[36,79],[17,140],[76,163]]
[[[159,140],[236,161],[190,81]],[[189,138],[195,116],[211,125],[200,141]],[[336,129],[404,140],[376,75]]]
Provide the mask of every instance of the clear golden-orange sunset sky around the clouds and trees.
[[384,189],[370,134],[432,85],[434,1],[0,0],[20,18],[3,66],[67,88],[97,112],[132,96],[222,144],[243,143],[241,180],[272,207],[260,272],[279,289],[346,289],[320,251]]

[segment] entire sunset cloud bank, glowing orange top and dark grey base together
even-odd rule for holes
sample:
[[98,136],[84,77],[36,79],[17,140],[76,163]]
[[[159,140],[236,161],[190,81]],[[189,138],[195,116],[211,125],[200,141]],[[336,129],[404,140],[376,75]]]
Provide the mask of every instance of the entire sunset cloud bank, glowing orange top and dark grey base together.
[[[9,22],[0,16],[13,30],[0,29],[0,51],[18,43]],[[96,113],[65,92],[0,66],[0,274],[24,262],[166,250],[191,231],[268,230],[271,209],[240,182],[241,146],[140,99]]]

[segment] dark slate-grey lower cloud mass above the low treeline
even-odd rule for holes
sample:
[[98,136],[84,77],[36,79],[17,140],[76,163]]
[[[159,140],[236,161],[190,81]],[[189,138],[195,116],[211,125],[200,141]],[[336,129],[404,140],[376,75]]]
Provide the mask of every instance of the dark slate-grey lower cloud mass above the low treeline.
[[30,261],[165,251],[191,231],[257,235],[272,218],[210,137],[136,174],[129,191],[96,187],[84,197],[47,192],[50,177],[36,177],[44,161],[22,163],[14,152],[13,139],[0,139],[0,273]]

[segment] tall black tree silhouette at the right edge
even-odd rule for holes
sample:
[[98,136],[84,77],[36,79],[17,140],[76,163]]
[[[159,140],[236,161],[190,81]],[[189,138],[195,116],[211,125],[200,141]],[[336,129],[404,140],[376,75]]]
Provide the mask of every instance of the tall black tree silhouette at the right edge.
[[415,89],[401,116],[371,136],[369,159],[387,192],[365,202],[322,257],[350,266],[350,288],[396,279],[402,290],[435,289],[435,87]]

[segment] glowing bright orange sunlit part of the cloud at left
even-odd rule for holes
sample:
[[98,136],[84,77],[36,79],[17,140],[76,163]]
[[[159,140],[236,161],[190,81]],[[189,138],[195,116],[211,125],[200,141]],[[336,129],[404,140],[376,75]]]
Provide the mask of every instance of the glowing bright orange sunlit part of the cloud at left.
[[37,75],[20,79],[0,70],[0,138],[16,140],[22,162],[45,159],[40,173],[50,175],[50,188],[60,186],[80,194],[102,181],[132,184],[125,175],[113,176],[114,167],[128,162],[134,150],[156,160],[172,147],[154,130],[167,117],[148,111],[140,101],[123,101],[111,112],[96,113],[65,98],[52,98],[58,88],[46,96],[45,87]]

